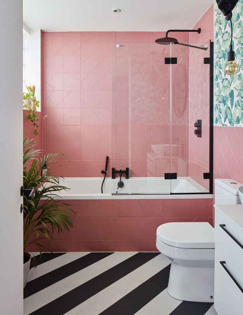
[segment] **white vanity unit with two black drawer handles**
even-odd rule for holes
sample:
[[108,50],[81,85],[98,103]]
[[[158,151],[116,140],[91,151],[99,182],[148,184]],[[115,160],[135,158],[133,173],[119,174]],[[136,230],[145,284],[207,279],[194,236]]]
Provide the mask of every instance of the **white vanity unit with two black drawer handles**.
[[243,205],[215,205],[214,308],[243,314]]

